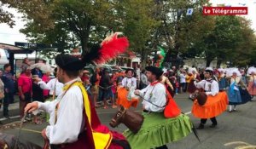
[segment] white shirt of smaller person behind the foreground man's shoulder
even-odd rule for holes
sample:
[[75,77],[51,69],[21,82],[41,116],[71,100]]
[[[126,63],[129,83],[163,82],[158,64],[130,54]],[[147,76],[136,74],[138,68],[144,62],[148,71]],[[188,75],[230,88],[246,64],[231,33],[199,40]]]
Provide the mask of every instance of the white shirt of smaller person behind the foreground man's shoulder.
[[[55,87],[56,83],[56,87]],[[44,81],[38,82],[41,89],[49,89],[49,95],[53,95],[55,90],[55,95],[61,95],[63,83],[60,83],[57,78],[50,79],[48,83],[44,83]]]

